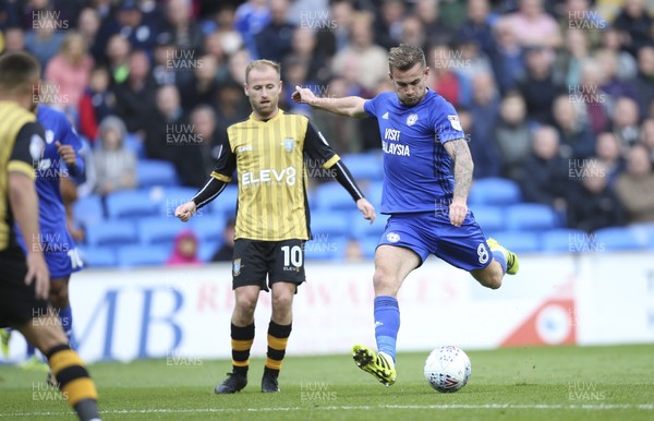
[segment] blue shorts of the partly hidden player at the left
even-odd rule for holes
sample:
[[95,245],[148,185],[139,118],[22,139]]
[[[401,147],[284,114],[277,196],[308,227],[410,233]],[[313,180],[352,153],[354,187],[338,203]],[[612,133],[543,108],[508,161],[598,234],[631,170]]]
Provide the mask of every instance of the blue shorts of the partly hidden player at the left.
[[[50,270],[50,279],[64,278],[73,272],[82,270],[84,263],[75,248],[75,241],[64,227],[48,229],[41,227],[40,234],[41,251]],[[22,236],[17,236],[17,242],[26,250]]]

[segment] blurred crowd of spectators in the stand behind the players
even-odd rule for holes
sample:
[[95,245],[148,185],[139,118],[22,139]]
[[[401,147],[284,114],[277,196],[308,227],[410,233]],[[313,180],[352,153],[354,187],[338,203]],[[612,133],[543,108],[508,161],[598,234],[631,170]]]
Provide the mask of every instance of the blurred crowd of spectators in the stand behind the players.
[[226,128],[250,113],[244,68],[282,67],[281,107],[340,154],[376,122],[295,105],[390,91],[388,49],[424,48],[428,86],[461,115],[475,178],[516,180],[583,230],[654,220],[654,20],[644,0],[8,0],[0,49],[44,67],[50,103],[89,143],[92,191],[135,185],[134,154],[201,187]]

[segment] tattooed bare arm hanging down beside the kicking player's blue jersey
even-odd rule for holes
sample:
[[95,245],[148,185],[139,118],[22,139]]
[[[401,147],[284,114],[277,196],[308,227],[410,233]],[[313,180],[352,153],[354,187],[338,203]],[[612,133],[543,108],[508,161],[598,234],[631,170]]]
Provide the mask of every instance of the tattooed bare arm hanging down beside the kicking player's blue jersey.
[[472,185],[472,155],[464,139],[446,142],[445,149],[455,161],[455,194],[450,204],[450,222],[460,227],[468,214],[468,193]]

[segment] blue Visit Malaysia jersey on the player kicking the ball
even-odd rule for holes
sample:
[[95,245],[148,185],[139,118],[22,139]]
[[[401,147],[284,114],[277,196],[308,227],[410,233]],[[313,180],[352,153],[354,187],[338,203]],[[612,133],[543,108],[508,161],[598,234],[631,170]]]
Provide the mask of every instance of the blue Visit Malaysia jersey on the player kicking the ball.
[[365,101],[364,110],[377,118],[382,135],[382,213],[433,212],[451,203],[453,161],[443,145],[465,139],[455,107],[427,89],[414,106],[382,93]]

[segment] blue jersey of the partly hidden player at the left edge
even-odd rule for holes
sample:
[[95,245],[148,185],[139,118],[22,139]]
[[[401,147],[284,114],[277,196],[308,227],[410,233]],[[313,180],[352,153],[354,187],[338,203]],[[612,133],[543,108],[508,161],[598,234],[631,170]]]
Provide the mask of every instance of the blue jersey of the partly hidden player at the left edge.
[[[46,130],[46,148],[36,171],[39,222],[41,231],[49,231],[55,227],[65,227],[65,208],[59,183],[62,177],[77,178],[84,175],[84,160],[78,155],[82,141],[63,112],[39,105],[36,117]],[[76,166],[65,166],[57,152],[57,142],[73,146],[77,154]]]

